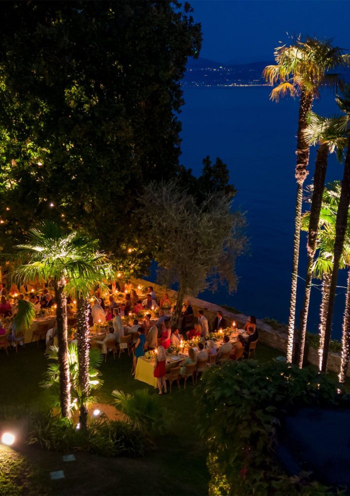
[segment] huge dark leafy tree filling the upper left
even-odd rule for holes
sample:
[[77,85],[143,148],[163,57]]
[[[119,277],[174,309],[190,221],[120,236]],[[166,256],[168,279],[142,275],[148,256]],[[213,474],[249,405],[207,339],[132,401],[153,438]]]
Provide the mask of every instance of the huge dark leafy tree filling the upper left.
[[138,246],[147,265],[135,198],[179,172],[180,80],[201,44],[190,11],[168,0],[4,4],[0,244],[20,242],[33,219],[59,219],[120,261],[119,240]]

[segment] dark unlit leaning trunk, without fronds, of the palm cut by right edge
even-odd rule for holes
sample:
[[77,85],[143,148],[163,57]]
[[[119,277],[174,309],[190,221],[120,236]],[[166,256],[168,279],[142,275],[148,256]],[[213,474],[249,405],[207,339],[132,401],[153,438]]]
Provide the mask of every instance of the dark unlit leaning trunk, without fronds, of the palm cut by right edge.
[[333,319],[336,283],[338,280],[339,261],[344,244],[345,231],[347,226],[349,204],[350,204],[350,135],[347,138],[347,152],[344,163],[344,175],[341,181],[341,192],[340,192],[338,211],[336,214],[336,221],[335,221],[334,262],[333,262],[332,279],[330,282],[328,312],[327,312],[325,331],[324,331],[324,347],[323,347],[322,367],[321,367],[322,372],[326,372],[327,370],[328,350],[329,350],[329,341],[330,341],[330,331],[331,331],[331,325]]

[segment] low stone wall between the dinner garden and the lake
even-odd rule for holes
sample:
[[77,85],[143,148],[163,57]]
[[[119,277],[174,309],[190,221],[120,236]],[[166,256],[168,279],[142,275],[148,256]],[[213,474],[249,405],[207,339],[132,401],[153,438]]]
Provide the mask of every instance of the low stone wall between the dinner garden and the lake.
[[[154,283],[149,283],[148,281],[144,280],[135,280],[136,284],[140,284],[142,286],[153,286],[154,291],[156,293],[161,294],[164,292],[163,288],[161,286],[158,286],[157,284]],[[169,295],[170,298],[176,299],[176,291],[173,290],[166,290],[166,293]],[[232,324],[233,321],[236,322],[238,327],[243,327],[244,324],[246,323],[248,316],[244,314],[234,314],[232,312],[229,312],[228,310],[225,310],[224,308],[214,305],[213,303],[206,302],[204,300],[200,300],[199,298],[192,298],[190,296],[186,297],[188,300],[190,300],[194,315],[198,315],[198,310],[204,310],[204,315],[210,322],[210,324],[213,323],[215,317],[216,317],[216,312],[220,310],[222,312],[222,315],[226,319],[226,321],[230,324]],[[285,350],[287,347],[287,333],[281,329],[277,330],[271,327],[270,325],[266,324],[263,320],[257,319],[256,320],[256,327],[259,332],[259,341],[263,343],[266,346],[269,346],[270,348],[274,348],[275,350],[279,350],[282,355],[285,355]],[[307,361],[308,363],[311,363],[313,365],[318,365],[318,353],[317,350],[310,348],[308,350],[307,354]],[[340,368],[340,354],[339,353],[328,353],[328,361],[327,361],[327,369],[331,370],[332,372],[339,372]],[[347,377],[350,377],[350,368],[347,370]]]

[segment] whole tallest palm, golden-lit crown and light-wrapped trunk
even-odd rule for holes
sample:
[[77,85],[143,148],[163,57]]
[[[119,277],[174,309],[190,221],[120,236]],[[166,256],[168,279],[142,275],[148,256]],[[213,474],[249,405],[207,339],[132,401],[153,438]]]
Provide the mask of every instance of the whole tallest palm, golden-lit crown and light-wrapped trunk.
[[348,65],[349,55],[343,54],[343,51],[337,47],[332,47],[331,40],[321,42],[315,38],[307,37],[304,41],[298,38],[293,45],[277,47],[274,58],[276,64],[265,67],[263,71],[263,76],[271,85],[279,83],[272,90],[270,98],[278,101],[279,97],[288,94],[292,97],[300,96],[296,142],[295,178],[297,190],[293,263],[286,350],[287,361],[291,362],[294,343],[302,188],[307,176],[309,158],[309,145],[303,134],[307,126],[306,115],[311,111],[313,99],[318,97],[319,88],[322,85],[337,86],[340,84],[338,75],[328,74],[327,71],[338,66]]

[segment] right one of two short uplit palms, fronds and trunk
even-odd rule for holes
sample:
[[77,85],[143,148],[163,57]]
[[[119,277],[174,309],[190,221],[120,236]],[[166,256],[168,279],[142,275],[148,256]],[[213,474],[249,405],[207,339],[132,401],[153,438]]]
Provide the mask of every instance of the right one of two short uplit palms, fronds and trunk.
[[81,235],[85,243],[80,247],[80,256],[83,257],[83,272],[80,273],[81,266],[76,266],[75,271],[70,273],[70,277],[65,286],[65,292],[74,296],[77,302],[76,331],[77,331],[77,351],[78,351],[78,385],[79,385],[79,407],[80,407],[80,428],[86,427],[87,407],[85,398],[89,396],[89,345],[88,345],[88,298],[90,291],[98,285],[103,291],[107,288],[106,281],[114,276],[114,271],[105,254],[97,251],[97,240]]

